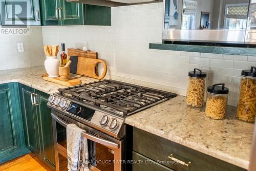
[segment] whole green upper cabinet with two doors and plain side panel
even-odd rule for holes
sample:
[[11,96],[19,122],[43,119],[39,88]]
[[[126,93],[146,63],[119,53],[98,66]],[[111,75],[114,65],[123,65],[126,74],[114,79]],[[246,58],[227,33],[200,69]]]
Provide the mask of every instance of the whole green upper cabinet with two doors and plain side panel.
[[42,25],[100,25],[111,26],[111,8],[66,0],[40,1]]

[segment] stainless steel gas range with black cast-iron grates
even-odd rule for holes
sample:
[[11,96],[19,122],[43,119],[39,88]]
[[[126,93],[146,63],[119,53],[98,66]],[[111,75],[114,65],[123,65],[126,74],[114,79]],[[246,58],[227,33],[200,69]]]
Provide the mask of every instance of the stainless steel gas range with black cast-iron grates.
[[[52,109],[56,170],[67,170],[66,126],[75,123],[86,130],[96,147],[90,170],[127,170],[132,134],[125,117],[176,97],[176,94],[115,80],[103,80],[58,89],[48,99]],[[90,145],[89,145],[90,148]],[[90,157],[90,154],[89,154]],[[90,159],[90,158],[89,158]]]

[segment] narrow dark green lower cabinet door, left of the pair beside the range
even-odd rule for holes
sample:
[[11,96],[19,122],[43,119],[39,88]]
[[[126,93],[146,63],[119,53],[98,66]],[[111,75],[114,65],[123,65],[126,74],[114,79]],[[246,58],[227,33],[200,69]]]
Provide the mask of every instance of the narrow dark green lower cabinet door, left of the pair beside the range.
[[23,125],[25,131],[25,141],[31,152],[39,155],[40,143],[38,136],[38,124],[35,106],[32,104],[32,94],[34,89],[20,84],[20,103],[22,106]]

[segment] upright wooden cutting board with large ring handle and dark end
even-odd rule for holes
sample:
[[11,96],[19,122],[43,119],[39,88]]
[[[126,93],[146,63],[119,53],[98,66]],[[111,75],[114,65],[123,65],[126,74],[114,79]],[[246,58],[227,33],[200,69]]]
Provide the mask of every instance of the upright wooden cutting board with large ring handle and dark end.
[[[102,59],[93,59],[80,56],[71,56],[70,59],[72,61],[70,65],[70,73],[96,79],[103,79],[106,75],[106,62]],[[103,74],[101,76],[98,76],[96,73],[98,63],[102,63],[103,65]]]

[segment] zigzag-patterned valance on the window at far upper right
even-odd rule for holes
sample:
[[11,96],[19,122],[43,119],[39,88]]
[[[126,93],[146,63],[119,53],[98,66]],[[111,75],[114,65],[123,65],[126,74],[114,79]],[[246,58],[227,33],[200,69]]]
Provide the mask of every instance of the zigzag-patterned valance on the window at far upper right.
[[247,19],[248,6],[230,6],[227,9],[227,18]]

